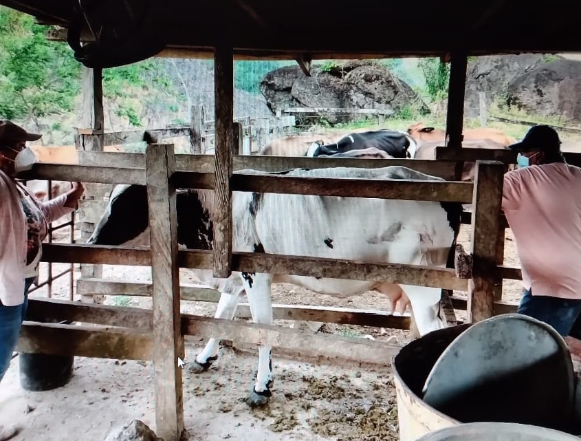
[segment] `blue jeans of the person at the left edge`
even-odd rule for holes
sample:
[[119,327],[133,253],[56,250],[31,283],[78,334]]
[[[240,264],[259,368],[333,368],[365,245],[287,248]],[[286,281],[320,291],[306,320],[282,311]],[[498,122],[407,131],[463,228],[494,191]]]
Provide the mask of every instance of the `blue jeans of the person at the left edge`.
[[34,277],[25,279],[24,303],[16,306],[4,306],[0,303],[0,381],[8,371],[12,352],[18,342],[20,328],[28,307],[28,288],[32,285],[32,281]]

